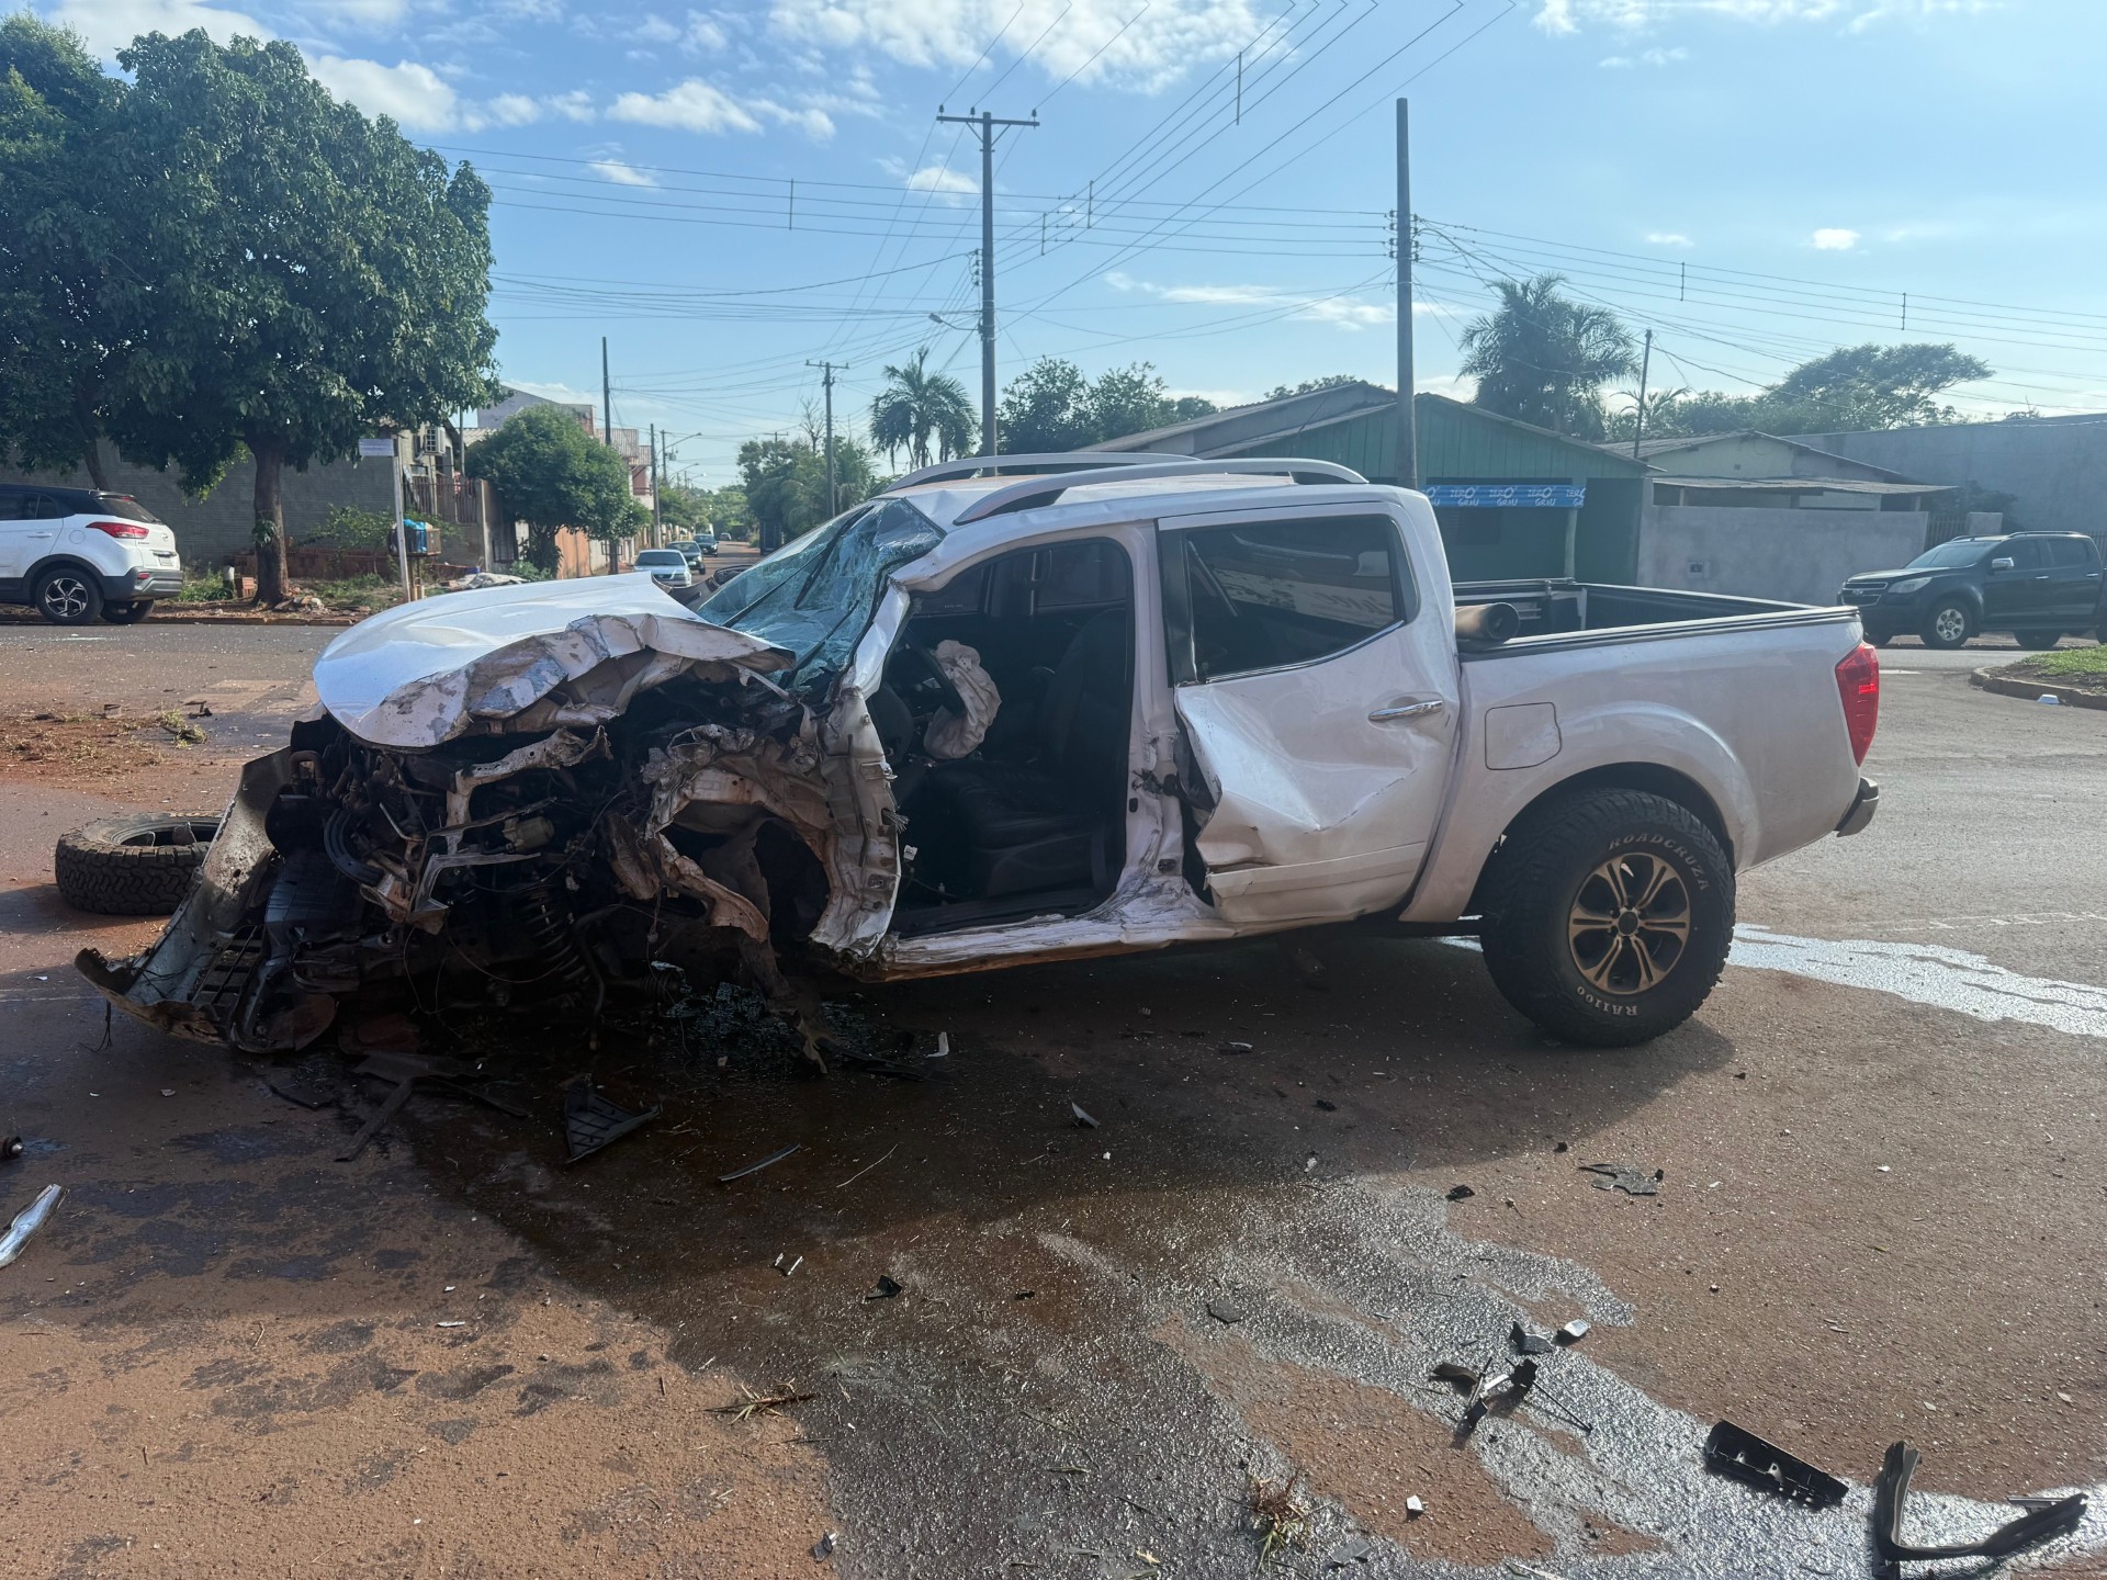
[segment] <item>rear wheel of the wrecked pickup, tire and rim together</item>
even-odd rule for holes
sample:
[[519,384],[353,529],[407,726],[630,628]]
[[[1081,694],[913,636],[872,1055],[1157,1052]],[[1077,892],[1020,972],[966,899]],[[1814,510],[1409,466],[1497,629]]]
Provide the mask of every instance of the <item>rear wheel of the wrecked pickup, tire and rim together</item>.
[[[1511,832],[1494,862],[1485,967],[1553,1036],[1591,1047],[1652,1041],[1690,1020],[1726,969],[1734,868],[1719,838],[1665,796],[1578,790]],[[1622,904],[1637,897],[1631,887],[1648,889],[1641,910]],[[1582,914],[1603,916],[1603,927],[1574,931]]]

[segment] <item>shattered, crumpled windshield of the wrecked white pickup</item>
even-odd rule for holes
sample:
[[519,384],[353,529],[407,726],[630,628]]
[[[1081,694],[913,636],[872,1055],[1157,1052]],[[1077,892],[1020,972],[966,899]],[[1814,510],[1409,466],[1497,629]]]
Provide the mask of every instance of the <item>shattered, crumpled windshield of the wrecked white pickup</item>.
[[887,577],[942,539],[906,499],[879,499],[775,550],[695,613],[796,653],[790,685],[805,687],[847,668]]

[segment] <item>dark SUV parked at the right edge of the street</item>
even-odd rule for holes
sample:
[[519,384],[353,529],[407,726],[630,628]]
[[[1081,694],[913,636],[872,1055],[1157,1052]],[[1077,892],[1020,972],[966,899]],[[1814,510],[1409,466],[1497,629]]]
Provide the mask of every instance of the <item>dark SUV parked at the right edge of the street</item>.
[[1837,603],[1858,607],[1873,647],[1905,634],[1960,647],[1983,632],[2008,632],[2021,647],[2054,647],[2073,632],[2107,643],[2101,552],[2084,533],[1953,537],[1901,571],[1854,575]]

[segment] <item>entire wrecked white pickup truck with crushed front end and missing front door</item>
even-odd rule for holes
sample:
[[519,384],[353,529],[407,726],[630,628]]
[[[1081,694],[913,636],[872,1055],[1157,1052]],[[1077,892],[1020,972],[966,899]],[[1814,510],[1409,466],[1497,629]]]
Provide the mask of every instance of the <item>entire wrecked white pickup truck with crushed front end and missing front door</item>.
[[352,994],[590,1015],[653,963],[1359,923],[1475,933],[1540,1026],[1637,1043],[1711,992],[1736,870],[1877,796],[1854,611],[1452,588],[1422,495],[1317,461],[929,468],[695,611],[464,592],[314,678],[160,942],[82,954],[129,1013],[282,1051]]

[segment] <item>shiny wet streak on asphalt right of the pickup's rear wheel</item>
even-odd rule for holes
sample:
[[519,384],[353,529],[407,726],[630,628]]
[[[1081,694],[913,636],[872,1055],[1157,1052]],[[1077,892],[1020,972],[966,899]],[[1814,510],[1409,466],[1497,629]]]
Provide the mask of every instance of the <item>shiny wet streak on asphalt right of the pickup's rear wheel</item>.
[[1892,992],[1915,1005],[1985,1022],[2016,1020],[2071,1036],[2107,1036],[2107,988],[2021,975],[1981,954],[1941,944],[1833,942],[1736,927],[1728,963],[1755,971],[1791,971],[1842,988]]

